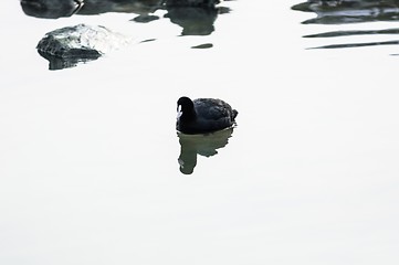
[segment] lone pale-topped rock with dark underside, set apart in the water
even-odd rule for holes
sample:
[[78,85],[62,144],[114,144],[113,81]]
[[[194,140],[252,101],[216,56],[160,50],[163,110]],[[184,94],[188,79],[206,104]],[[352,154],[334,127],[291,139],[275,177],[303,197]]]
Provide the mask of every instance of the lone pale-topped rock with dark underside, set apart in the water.
[[74,66],[78,62],[96,60],[130,42],[130,38],[105,26],[77,24],[46,33],[38,43],[36,49],[50,61],[50,68],[56,70]]

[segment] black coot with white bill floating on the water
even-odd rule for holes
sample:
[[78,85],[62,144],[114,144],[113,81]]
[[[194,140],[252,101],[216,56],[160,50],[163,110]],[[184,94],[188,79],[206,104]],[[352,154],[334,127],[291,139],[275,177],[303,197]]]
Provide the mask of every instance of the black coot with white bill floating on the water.
[[207,134],[232,127],[239,114],[231,106],[217,98],[183,96],[177,102],[176,129],[182,134]]

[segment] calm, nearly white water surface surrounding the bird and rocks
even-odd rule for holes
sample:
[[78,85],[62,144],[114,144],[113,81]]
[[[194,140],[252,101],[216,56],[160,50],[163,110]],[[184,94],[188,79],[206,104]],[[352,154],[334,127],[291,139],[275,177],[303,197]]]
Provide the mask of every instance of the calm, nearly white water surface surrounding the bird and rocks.
[[[398,264],[396,1],[300,3],[227,1],[187,34],[166,10],[4,2],[0,264]],[[77,23],[134,43],[49,70],[35,45]],[[225,99],[238,126],[179,137],[181,95]]]

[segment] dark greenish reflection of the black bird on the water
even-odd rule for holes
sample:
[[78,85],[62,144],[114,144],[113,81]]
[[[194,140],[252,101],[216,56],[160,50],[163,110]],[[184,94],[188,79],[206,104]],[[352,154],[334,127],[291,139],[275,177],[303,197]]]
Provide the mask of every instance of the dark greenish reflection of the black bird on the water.
[[180,142],[179,165],[180,172],[191,174],[197,166],[197,155],[211,157],[218,153],[217,149],[225,147],[233,128],[216,131],[208,135],[178,134]]

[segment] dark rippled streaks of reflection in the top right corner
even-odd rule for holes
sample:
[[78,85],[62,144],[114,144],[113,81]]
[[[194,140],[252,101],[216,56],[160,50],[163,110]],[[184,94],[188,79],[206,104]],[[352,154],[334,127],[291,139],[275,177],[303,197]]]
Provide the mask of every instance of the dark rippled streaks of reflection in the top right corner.
[[[292,7],[293,10],[313,12],[316,18],[305,20],[303,24],[349,24],[376,21],[399,20],[399,0],[309,0]],[[399,29],[329,31],[304,35],[304,38],[339,38],[355,35],[398,34]],[[338,43],[312,49],[342,49],[375,45],[397,45],[399,40]]]

